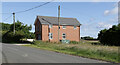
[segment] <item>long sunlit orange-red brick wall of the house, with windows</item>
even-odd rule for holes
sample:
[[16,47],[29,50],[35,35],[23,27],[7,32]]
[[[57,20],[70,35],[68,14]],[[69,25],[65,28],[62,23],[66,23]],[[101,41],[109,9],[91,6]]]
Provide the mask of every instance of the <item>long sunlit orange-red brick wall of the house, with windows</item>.
[[[53,33],[53,39],[51,40],[49,40],[49,33]],[[66,34],[66,40],[80,41],[80,27],[74,29],[73,26],[66,26],[66,29],[63,29],[62,26],[60,26],[60,40],[62,40],[63,33]],[[49,29],[48,25],[42,25],[42,40],[58,42],[58,26],[53,25],[52,28]]]

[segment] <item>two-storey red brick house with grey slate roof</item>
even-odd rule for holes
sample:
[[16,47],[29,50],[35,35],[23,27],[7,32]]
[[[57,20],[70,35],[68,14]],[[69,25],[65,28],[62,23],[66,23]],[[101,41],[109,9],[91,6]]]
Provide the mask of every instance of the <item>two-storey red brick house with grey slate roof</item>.
[[[58,17],[37,16],[36,40],[58,42]],[[60,40],[80,41],[80,23],[76,18],[60,17]]]

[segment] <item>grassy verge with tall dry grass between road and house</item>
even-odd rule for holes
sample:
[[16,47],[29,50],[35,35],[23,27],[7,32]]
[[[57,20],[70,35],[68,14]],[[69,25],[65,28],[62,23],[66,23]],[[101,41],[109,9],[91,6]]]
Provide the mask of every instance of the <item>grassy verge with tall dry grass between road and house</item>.
[[34,44],[27,46],[115,63],[119,63],[120,60],[119,47],[94,45],[89,41],[71,42],[70,44],[35,41]]

